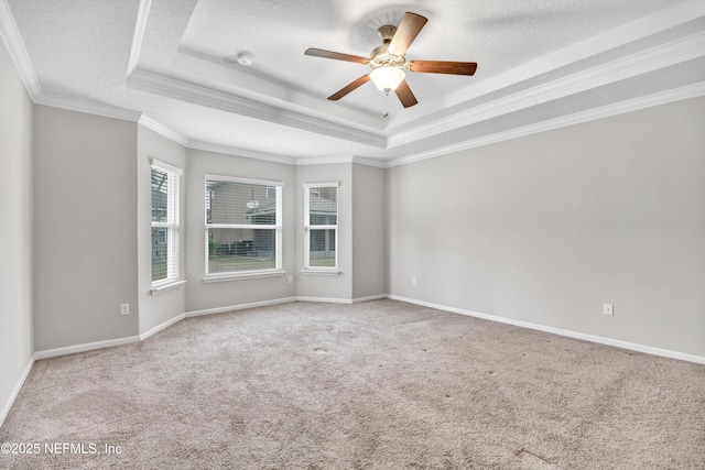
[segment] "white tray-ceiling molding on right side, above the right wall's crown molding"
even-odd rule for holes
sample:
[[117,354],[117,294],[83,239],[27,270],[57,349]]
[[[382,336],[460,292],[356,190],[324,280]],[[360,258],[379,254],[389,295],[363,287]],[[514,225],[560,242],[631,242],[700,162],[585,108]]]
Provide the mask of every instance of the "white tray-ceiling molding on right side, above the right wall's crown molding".
[[457,112],[429,124],[417,125],[390,135],[390,149],[432,138],[468,124],[497,118],[532,106],[553,101],[637,75],[705,56],[705,33],[697,33],[668,44],[638,52],[601,66],[539,85],[529,90]]

